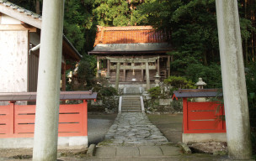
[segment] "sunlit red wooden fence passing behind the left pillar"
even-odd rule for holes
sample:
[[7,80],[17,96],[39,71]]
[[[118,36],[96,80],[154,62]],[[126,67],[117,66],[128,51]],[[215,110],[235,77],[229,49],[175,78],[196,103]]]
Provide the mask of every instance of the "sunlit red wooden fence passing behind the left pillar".
[[[59,137],[88,136],[87,101],[60,105]],[[35,105],[0,106],[0,138],[32,138],[35,128]]]

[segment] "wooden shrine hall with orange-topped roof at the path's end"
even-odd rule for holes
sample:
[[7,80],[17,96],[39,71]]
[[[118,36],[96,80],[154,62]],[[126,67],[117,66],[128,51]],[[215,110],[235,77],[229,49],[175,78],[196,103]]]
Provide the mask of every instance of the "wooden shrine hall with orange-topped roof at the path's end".
[[130,85],[148,90],[158,75],[162,81],[170,75],[168,39],[169,33],[152,26],[98,26],[94,49],[88,54],[97,57],[97,75],[108,78],[116,89]]

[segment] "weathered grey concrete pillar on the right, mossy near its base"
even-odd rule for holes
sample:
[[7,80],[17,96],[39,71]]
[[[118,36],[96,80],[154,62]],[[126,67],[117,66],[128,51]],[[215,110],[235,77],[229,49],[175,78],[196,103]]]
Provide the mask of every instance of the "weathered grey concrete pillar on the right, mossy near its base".
[[252,143],[237,0],[216,0],[216,13],[228,153],[231,158],[248,159]]

